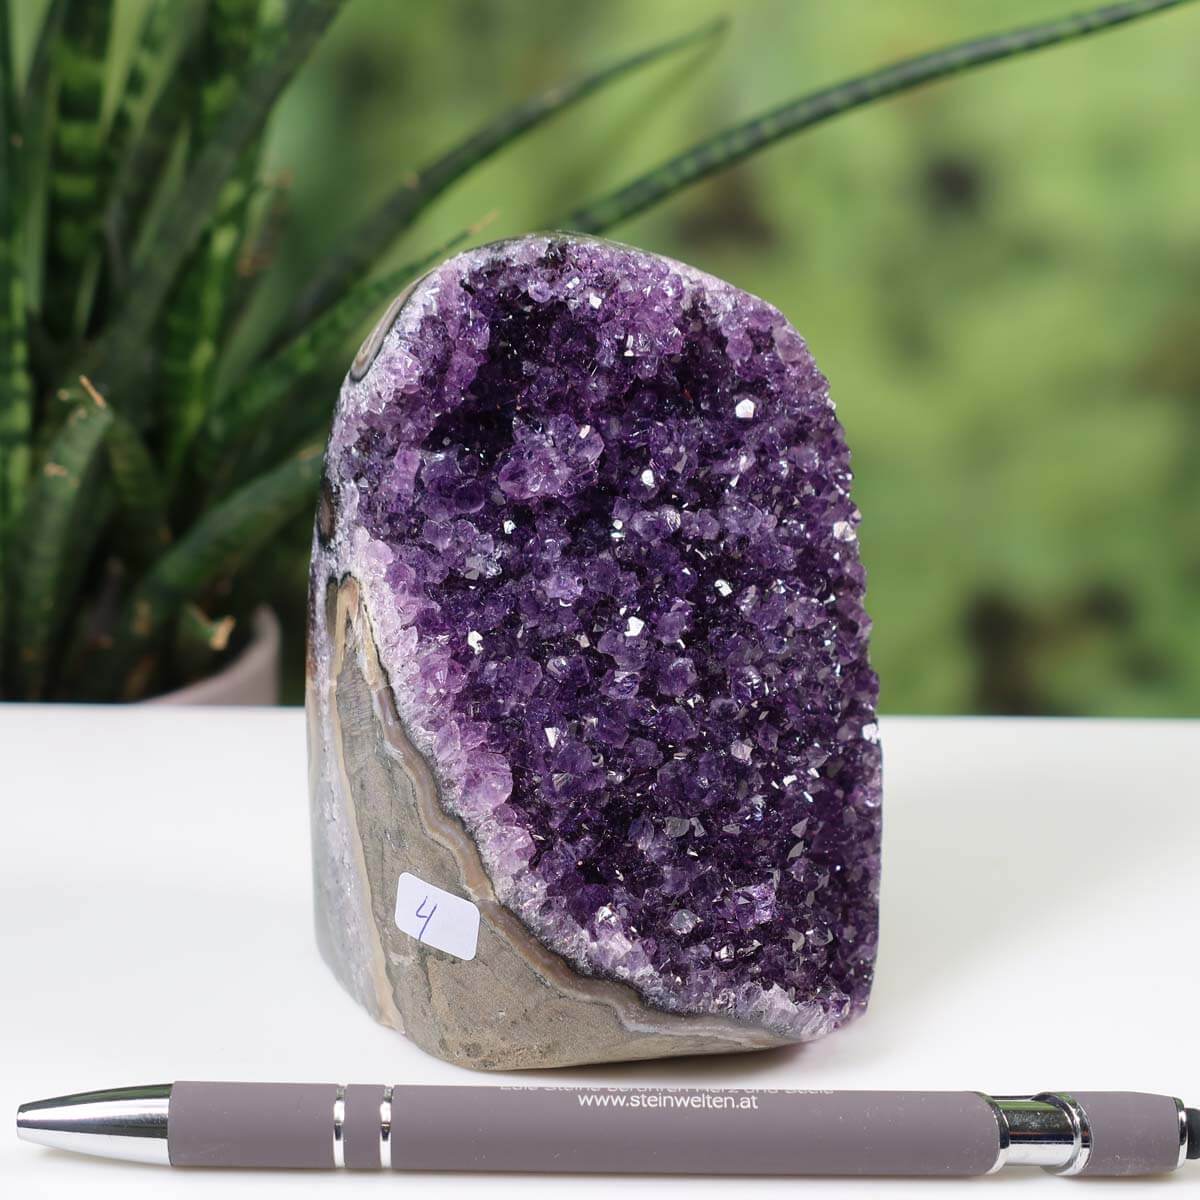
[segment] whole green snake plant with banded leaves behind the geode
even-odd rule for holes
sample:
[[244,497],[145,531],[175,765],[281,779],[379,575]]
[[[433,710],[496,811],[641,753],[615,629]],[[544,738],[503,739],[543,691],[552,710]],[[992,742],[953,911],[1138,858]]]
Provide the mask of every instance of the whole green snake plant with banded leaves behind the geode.
[[[264,131],[346,0],[150,0],[108,106],[115,0],[49,0],[18,64],[11,10],[23,2],[0,0],[0,697],[136,700],[220,665],[234,617],[260,599],[247,564],[313,504],[332,397],[314,404],[306,384],[478,230],[397,270],[373,264],[516,138],[724,26],[564,82],[409,172],[228,379],[262,286],[239,264],[278,217]],[[1183,2],[1111,4],[886,66],[720,131],[548,223],[605,233],[853,108]]]

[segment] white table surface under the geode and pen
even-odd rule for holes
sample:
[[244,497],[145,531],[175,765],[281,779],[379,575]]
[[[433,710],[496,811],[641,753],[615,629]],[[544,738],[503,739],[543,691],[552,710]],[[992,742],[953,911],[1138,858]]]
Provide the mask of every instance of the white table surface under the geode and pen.
[[[882,732],[883,930],[865,1018],[805,1048],[484,1078],[374,1025],[320,961],[300,712],[0,706],[0,1109],[170,1079],[1133,1088],[1200,1104],[1200,724],[892,718]],[[1189,1165],[1111,1195],[1196,1195]],[[500,1198],[935,1190],[169,1171],[0,1136],[0,1195],[23,1200],[409,1183]],[[936,1194],[967,1188],[1097,1192],[1022,1169]]]

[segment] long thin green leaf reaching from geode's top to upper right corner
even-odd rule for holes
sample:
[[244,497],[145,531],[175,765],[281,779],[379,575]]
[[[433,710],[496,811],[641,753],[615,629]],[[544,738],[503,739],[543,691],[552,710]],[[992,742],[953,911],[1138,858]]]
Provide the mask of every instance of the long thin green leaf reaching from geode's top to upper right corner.
[[764,146],[842,113],[935,79],[1075,41],[1188,2],[1190,0],[1130,0],[1105,5],[1044,24],[947,46],[823,88],[698,142],[616,192],[576,209],[562,227],[580,233],[602,233]]

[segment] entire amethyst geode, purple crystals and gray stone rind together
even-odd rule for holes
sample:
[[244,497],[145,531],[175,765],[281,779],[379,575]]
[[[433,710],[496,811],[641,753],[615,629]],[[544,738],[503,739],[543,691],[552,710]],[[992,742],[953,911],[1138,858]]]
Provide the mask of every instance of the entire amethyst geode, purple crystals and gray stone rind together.
[[318,931],[377,1018],[509,1068],[865,1007],[850,481],[804,341],[680,263],[532,236],[396,301],[334,422],[308,664]]

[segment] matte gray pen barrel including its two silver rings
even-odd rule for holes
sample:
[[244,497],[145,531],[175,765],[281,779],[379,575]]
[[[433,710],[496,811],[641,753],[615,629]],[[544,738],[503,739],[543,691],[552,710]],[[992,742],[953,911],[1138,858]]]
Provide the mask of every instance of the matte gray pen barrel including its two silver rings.
[[938,1176],[1000,1159],[974,1092],[179,1082],[168,1140],[176,1166]]

